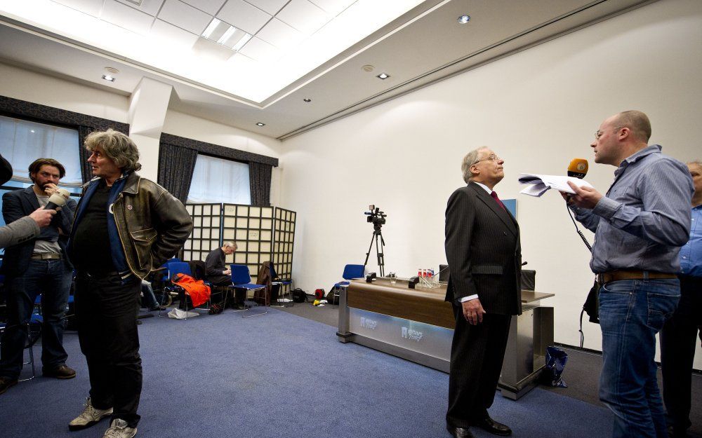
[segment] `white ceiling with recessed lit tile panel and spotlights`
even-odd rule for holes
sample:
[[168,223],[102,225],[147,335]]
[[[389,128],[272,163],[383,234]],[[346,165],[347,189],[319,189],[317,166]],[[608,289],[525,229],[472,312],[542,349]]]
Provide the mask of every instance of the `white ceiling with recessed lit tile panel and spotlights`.
[[[0,2],[0,60],[127,95],[135,90],[141,78],[154,78],[173,85],[172,109],[284,139],[651,3],[651,0],[364,1]],[[53,6],[42,14],[37,8],[25,7],[32,2]],[[324,32],[332,28],[332,22],[338,22],[339,29],[348,29],[352,19],[359,19],[352,14],[354,8],[367,12],[363,7],[369,4],[373,13],[360,16],[364,24],[355,22],[355,27],[362,28],[360,34],[346,36],[334,50],[327,49],[324,56],[317,50],[306,67],[291,67],[286,58],[302,56],[304,50],[300,48],[310,46],[315,37],[331,39],[332,33]],[[385,8],[388,4],[394,5]],[[90,23],[89,29],[118,29],[122,36],[131,38],[143,39],[147,35],[151,41],[159,42],[161,57],[130,57],[114,41],[88,41],[76,32],[67,35],[55,23],[50,26],[44,22],[47,17],[55,16],[57,10],[69,11],[69,15],[80,11]],[[471,20],[460,25],[457,18],[464,13]],[[213,17],[253,37],[238,53],[199,37]],[[382,22],[378,22],[380,17]],[[124,41],[147,46],[145,40]],[[189,56],[194,52],[205,60],[192,62]],[[190,62],[185,68],[173,69],[159,64],[161,58],[172,57]],[[238,89],[255,91],[234,93],[236,90],[231,86],[219,86],[221,81],[207,68],[212,65],[224,65],[227,71],[232,71],[227,76],[237,78]],[[371,71],[364,66],[371,66]],[[119,69],[114,83],[102,81],[105,67]],[[236,76],[235,72],[241,71],[248,71],[249,76]],[[257,88],[252,72],[256,82],[264,85]],[[380,72],[387,72],[390,78],[380,80],[376,77]],[[304,98],[311,102],[303,102]],[[256,126],[259,121],[265,126]]]

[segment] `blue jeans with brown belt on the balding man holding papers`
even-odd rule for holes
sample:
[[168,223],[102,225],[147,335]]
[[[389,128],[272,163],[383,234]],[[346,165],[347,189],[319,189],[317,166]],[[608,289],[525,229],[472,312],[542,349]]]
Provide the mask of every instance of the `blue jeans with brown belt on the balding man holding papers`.
[[614,413],[614,438],[668,438],[654,355],[656,333],[679,299],[677,278],[621,280],[600,288],[600,400]]

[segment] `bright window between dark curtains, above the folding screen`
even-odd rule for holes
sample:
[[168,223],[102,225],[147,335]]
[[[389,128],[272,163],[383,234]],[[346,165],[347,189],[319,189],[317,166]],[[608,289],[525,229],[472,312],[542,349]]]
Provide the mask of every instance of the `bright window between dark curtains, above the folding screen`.
[[198,154],[187,202],[251,205],[249,165]]

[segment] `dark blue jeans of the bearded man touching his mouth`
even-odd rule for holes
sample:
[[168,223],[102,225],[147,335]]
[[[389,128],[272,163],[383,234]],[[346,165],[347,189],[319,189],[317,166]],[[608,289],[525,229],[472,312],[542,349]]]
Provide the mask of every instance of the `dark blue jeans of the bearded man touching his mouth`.
[[7,328],[0,348],[0,376],[18,378],[27,341],[26,322],[41,294],[41,363],[53,370],[66,363],[63,329],[73,272],[63,260],[29,260],[27,271],[8,281]]

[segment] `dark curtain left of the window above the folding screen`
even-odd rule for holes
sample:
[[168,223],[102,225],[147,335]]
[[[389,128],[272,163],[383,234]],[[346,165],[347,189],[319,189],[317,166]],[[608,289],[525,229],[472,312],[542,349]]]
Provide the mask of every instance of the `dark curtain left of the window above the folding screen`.
[[185,204],[190,191],[192,172],[195,170],[197,151],[173,144],[161,143],[159,147],[159,180],[171,195]]

